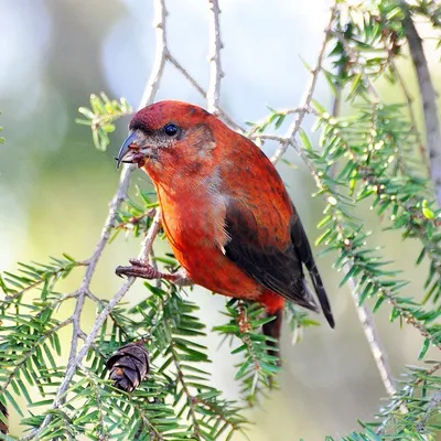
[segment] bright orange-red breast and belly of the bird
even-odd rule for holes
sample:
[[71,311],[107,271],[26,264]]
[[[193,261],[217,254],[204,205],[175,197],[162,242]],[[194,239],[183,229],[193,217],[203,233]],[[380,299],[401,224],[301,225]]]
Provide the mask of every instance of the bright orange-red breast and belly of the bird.
[[178,261],[190,278],[225,295],[257,298],[261,288],[224,255],[227,196],[209,187],[171,193],[157,187],[162,225]]

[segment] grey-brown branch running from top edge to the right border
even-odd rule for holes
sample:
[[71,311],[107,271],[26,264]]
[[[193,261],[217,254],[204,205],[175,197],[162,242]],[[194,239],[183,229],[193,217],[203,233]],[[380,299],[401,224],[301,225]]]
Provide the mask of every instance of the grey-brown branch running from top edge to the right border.
[[430,178],[438,206],[441,206],[441,129],[438,119],[437,92],[430,77],[422,40],[415,26],[407,2],[402,1],[401,4],[405,11],[402,25],[409,44],[410,56],[417,72],[424,112],[426,146],[429,152]]

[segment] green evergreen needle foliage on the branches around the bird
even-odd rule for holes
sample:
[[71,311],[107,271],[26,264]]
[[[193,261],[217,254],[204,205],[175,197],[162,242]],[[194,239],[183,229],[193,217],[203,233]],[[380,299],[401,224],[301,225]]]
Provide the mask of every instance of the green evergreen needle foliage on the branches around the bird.
[[[260,122],[251,123],[248,133],[258,142],[276,140],[284,149],[294,147],[306,163],[316,195],[326,203],[318,245],[335,257],[335,267],[344,275],[342,286],[351,282],[359,304],[375,299],[373,312],[388,309],[390,322],[412,326],[422,336],[416,354],[419,366],[405,368],[396,394],[379,408],[376,421],[361,422],[359,431],[340,438],[347,441],[434,440],[441,430],[441,209],[427,173],[424,137],[396,66],[398,58],[412,56],[404,50],[408,34],[402,23],[416,17],[441,29],[441,7],[435,1],[419,0],[412,6],[400,0],[337,1],[323,46],[327,66],[319,62],[310,69],[313,78],[323,74],[336,99],[347,103],[351,116],[336,115],[312,99],[311,88],[305,107],[270,109]],[[165,55],[176,66],[170,53]],[[397,84],[405,99],[384,103],[376,92],[379,82]],[[78,122],[90,126],[95,146],[106,150],[114,122],[132,108],[125,99],[111,100],[101,94],[92,96],[90,109],[79,111],[85,119]],[[316,119],[318,142],[300,127],[306,112]],[[280,135],[290,118],[294,130]],[[121,187],[129,178],[126,172]],[[154,194],[138,189],[129,198],[126,190],[112,202],[114,212],[98,248],[120,232],[154,238]],[[356,207],[364,202],[385,229],[399,230],[405,240],[418,240],[415,263],[429,263],[422,299],[402,295],[409,281],[394,262],[386,261],[380,249],[369,245],[370,233],[356,216]],[[209,330],[232,345],[243,400],[227,400],[211,381],[214,366],[204,346],[206,330],[189,289],[166,281],[146,282],[146,298],[126,308],[117,301],[130,288],[129,280],[112,301],[99,300],[89,289],[99,256],[100,251],[82,261],[63,255],[47,263],[20,263],[17,272],[1,275],[0,427],[8,426],[7,408],[21,416],[28,430],[23,440],[80,435],[92,440],[218,440],[246,432],[249,422],[244,409],[277,386],[279,358],[268,351],[272,342],[260,332],[272,319],[262,318],[257,304],[229,301],[226,323]],[[157,256],[153,261],[178,270],[173,256]],[[79,268],[86,268],[79,289],[60,292],[58,282]],[[65,320],[54,318],[69,301],[75,302],[74,312]],[[98,316],[88,335],[80,325],[86,301]],[[292,305],[287,305],[286,313],[295,331],[316,325]],[[73,334],[69,353],[60,343],[65,329]],[[108,379],[106,363],[133,342],[142,342],[149,354],[149,374],[132,392],[126,392]],[[430,347],[438,359],[427,356]],[[31,398],[31,388],[39,391],[37,400]],[[25,399],[29,411],[20,408],[17,397]],[[0,439],[17,438],[0,433]]]

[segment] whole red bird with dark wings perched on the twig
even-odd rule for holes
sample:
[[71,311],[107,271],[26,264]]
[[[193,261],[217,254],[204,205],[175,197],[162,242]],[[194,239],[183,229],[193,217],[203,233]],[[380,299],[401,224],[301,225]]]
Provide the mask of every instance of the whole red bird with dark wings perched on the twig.
[[191,280],[211,291],[258,301],[276,320],[263,332],[276,338],[284,301],[322,311],[331,306],[299,215],[265,153],[214,115],[187,103],[160,101],[138,111],[118,164],[136,163],[153,181],[162,226],[185,275],[163,275],[144,262],[118,275]]

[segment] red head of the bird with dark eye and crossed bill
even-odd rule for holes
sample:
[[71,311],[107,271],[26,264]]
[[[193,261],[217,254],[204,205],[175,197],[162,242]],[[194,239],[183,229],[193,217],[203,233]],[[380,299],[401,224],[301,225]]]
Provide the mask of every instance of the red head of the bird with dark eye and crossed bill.
[[118,165],[135,163],[157,181],[173,173],[208,171],[217,123],[222,122],[215,116],[187,103],[160,101],[147,106],[130,121]]

